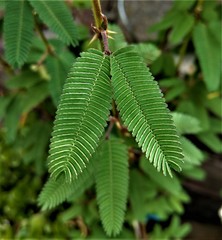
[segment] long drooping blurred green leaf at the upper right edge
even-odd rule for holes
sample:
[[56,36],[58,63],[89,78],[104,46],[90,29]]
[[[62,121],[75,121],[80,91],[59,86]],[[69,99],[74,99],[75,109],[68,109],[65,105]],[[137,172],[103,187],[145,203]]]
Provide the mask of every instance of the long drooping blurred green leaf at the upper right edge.
[[194,27],[193,42],[207,89],[215,91],[220,85],[220,43],[203,23]]

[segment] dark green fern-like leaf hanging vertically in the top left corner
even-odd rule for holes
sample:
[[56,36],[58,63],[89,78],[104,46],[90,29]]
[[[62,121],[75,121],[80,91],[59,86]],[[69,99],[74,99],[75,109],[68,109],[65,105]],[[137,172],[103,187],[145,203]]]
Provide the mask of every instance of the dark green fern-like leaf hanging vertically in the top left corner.
[[6,60],[14,68],[21,67],[32,43],[34,21],[26,0],[6,1],[4,40]]

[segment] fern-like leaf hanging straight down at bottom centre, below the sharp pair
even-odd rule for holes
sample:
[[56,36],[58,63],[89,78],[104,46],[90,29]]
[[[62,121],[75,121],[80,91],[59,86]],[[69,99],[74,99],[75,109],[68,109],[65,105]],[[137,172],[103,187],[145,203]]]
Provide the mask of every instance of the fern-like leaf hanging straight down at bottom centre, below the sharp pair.
[[96,172],[97,202],[106,233],[120,233],[128,193],[128,152],[118,138],[103,143]]

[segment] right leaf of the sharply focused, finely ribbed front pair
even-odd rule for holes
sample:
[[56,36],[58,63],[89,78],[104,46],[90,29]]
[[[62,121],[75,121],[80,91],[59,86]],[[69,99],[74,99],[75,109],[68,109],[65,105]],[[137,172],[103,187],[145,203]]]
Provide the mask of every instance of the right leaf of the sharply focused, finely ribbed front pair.
[[121,118],[146,157],[163,173],[180,170],[182,148],[172,116],[141,57],[129,47],[111,56],[114,97]]

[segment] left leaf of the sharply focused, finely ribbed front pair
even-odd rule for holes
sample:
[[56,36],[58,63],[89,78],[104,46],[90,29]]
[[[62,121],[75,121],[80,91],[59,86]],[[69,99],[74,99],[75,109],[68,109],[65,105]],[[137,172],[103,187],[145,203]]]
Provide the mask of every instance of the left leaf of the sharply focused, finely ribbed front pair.
[[49,172],[71,181],[95,152],[111,108],[109,57],[98,50],[73,64],[60,99],[50,145]]

